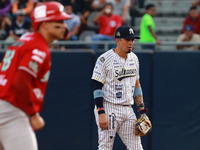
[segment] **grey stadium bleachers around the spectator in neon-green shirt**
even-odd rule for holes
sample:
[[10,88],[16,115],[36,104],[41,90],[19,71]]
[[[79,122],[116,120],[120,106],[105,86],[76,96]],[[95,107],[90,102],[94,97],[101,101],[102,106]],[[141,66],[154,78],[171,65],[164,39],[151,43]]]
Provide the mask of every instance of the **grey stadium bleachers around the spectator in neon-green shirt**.
[[[188,15],[189,8],[192,4],[191,0],[146,0],[145,5],[153,3],[156,6],[156,16],[154,21],[156,24],[156,33],[158,38],[162,41],[174,42],[177,40],[179,34],[181,34],[182,24]],[[139,8],[136,5],[136,9],[141,13],[145,13],[144,8]],[[135,32],[139,34],[140,22],[142,17],[135,19],[135,26],[133,27]],[[176,46],[161,45],[157,46],[158,50],[176,49]]]

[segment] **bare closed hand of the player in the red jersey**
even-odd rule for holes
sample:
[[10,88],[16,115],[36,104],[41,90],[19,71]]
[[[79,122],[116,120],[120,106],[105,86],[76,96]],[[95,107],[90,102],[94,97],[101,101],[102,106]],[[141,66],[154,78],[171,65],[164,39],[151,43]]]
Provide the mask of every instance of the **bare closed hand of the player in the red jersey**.
[[38,112],[30,117],[30,121],[34,131],[42,129],[45,125],[44,119],[40,116]]

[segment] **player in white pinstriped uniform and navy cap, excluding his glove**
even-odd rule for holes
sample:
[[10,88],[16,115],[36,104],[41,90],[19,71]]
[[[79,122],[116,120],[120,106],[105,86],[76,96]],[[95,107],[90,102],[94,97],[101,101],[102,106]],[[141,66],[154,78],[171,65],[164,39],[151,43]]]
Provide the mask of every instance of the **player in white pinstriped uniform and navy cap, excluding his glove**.
[[134,134],[137,118],[131,105],[137,104],[139,113],[147,112],[139,81],[139,61],[131,52],[134,39],[132,28],[118,27],[117,47],[102,54],[96,61],[92,81],[95,117],[98,126],[99,150],[112,150],[116,133],[128,150],[142,150],[140,136]]

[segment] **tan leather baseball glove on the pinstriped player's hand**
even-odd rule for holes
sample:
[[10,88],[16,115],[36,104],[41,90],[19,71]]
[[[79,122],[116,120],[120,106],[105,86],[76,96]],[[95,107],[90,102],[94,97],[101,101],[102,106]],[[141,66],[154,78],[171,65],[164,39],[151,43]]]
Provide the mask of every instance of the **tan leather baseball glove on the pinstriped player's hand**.
[[145,136],[147,135],[151,129],[151,121],[149,120],[148,116],[144,113],[141,114],[138,120],[134,123],[135,126],[135,135],[137,136]]

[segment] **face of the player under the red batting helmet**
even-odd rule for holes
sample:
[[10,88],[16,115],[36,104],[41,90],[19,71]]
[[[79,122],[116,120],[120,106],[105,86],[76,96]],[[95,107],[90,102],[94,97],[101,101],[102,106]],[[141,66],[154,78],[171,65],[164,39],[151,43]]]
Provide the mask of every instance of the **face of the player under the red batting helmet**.
[[61,21],[49,21],[48,32],[53,39],[63,39],[67,26],[64,23],[64,20]]

